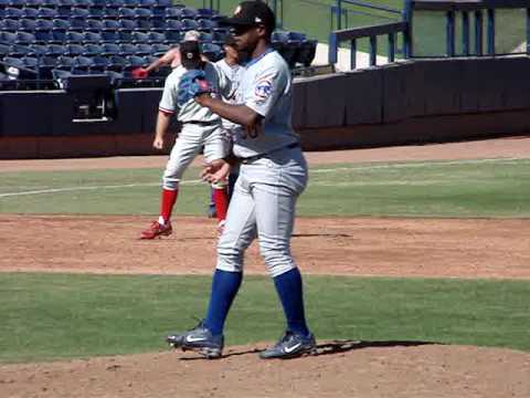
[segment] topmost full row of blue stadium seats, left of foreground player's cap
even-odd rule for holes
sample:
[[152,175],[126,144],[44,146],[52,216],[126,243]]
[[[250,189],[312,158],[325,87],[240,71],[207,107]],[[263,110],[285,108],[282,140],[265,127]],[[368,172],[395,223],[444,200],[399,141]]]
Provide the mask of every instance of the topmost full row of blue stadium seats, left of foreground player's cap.
[[191,10],[180,7],[169,8],[0,8],[1,18],[26,18],[26,19],[55,19],[55,18],[93,18],[93,19],[116,19],[116,18],[130,18],[130,19],[177,19],[177,20],[218,20],[220,17],[209,12],[187,12]]

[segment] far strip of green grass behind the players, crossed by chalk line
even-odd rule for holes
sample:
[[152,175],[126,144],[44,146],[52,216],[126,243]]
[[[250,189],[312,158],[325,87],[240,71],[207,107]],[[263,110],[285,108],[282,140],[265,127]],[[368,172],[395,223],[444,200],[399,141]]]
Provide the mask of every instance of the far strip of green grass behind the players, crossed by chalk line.
[[[530,217],[530,159],[312,167],[298,214]],[[209,187],[188,172],[177,214],[203,216]],[[157,214],[160,169],[1,172],[0,212]],[[32,195],[7,193],[67,189]]]

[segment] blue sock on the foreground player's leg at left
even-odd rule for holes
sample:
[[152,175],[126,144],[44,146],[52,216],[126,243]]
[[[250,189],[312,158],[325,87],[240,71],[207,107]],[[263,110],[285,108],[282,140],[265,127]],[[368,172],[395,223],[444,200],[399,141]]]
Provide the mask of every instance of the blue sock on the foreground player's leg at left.
[[243,274],[241,272],[227,272],[215,270],[212,281],[212,294],[205,326],[213,335],[223,333],[224,321],[229,315],[230,307],[241,286]]

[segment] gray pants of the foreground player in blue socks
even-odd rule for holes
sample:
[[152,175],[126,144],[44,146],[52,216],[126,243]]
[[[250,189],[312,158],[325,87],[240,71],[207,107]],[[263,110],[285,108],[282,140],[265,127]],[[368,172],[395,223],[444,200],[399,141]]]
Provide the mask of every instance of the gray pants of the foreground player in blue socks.
[[244,251],[256,237],[273,277],[295,268],[290,237],[296,200],[306,185],[307,164],[299,148],[283,149],[241,165],[218,243],[216,268],[242,272]]

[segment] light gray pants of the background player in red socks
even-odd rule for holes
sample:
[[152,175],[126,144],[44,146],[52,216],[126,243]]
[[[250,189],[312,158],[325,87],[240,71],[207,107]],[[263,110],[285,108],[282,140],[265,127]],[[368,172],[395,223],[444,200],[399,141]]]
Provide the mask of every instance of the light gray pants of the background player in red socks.
[[213,125],[184,123],[163,171],[165,189],[179,188],[182,175],[204,146],[208,161],[226,156],[230,147],[221,123]]

